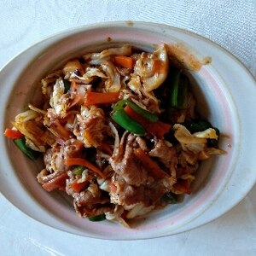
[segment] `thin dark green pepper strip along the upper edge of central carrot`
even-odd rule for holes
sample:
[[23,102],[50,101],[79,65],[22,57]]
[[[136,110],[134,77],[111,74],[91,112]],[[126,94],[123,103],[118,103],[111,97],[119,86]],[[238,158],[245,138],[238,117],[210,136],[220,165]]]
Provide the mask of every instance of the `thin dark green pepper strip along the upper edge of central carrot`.
[[143,109],[143,108],[137,106],[137,104],[135,104],[133,102],[130,102],[128,100],[121,100],[121,101],[117,102],[113,107],[113,111],[117,111],[120,108],[125,108],[125,105],[128,105],[130,108],[132,108],[134,111],[136,111],[137,113],[139,113],[145,119],[148,119],[148,121],[150,121],[152,123],[154,123],[158,120],[157,115],[155,115],[154,113],[149,112],[146,109]]

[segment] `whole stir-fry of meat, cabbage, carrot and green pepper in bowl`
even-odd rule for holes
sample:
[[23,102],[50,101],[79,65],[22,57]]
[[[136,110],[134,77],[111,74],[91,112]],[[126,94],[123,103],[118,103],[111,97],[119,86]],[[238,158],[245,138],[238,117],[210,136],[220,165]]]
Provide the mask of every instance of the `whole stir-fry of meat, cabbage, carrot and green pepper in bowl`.
[[124,45],[67,61],[41,80],[44,103],[4,135],[30,159],[42,155],[38,183],[70,195],[80,217],[128,226],[189,195],[201,161],[224,153],[170,58],[166,44]]

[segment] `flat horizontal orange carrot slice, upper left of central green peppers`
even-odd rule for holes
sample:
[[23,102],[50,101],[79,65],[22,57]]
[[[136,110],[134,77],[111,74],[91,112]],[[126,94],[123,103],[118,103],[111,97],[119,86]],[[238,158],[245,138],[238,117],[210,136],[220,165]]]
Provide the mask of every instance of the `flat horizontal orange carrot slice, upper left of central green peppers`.
[[97,104],[112,104],[119,101],[119,92],[94,92],[87,91],[84,104],[86,106]]

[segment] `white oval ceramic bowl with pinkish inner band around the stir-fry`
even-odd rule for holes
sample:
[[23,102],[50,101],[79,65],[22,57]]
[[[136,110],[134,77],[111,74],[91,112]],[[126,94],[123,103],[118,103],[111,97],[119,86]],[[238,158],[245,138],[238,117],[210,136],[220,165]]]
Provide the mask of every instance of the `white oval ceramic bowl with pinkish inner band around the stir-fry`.
[[[111,40],[109,40],[111,38]],[[155,44],[185,45],[199,59],[212,62],[198,73],[195,95],[201,114],[222,132],[220,147],[226,151],[201,164],[194,193],[183,203],[148,215],[133,229],[107,221],[79,218],[70,201],[58,192],[48,193],[36,180],[40,163],[27,160],[14,143],[0,137],[0,189],[22,212],[59,230],[103,239],[143,239],[190,230],[218,218],[234,207],[253,187],[256,158],[253,111],[255,81],[227,51],[206,38],[171,26],[144,22],[113,22],[62,32],[33,45],[16,56],[0,73],[1,132],[9,121],[36,98],[36,84],[43,75],[74,55],[132,44],[153,49]]]

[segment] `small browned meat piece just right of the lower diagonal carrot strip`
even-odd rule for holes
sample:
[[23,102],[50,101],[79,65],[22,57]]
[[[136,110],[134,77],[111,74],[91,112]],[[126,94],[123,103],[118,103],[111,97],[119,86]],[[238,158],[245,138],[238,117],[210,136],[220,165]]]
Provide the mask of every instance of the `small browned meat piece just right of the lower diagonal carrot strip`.
[[173,158],[176,157],[175,148],[169,144],[162,139],[156,140],[154,148],[148,153],[150,156],[157,157],[167,168],[170,168]]

